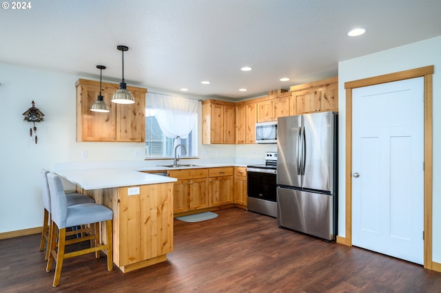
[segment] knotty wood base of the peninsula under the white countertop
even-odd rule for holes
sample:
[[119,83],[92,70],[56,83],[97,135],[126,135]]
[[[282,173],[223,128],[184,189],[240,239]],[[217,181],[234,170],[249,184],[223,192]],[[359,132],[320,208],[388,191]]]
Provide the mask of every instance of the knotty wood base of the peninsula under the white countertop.
[[[113,262],[122,272],[131,272],[167,261],[173,251],[173,183],[147,184],[77,191],[113,210]],[[139,194],[128,195],[129,188]],[[101,224],[105,243],[105,225]]]

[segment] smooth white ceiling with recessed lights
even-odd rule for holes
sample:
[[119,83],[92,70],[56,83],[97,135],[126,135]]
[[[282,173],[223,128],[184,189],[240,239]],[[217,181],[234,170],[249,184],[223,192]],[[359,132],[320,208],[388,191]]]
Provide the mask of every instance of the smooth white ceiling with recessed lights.
[[[0,63],[83,78],[105,65],[103,80],[119,82],[116,45],[127,45],[127,84],[226,100],[337,76],[339,61],[441,35],[440,0],[29,2],[0,10]],[[359,27],[364,35],[347,36]]]

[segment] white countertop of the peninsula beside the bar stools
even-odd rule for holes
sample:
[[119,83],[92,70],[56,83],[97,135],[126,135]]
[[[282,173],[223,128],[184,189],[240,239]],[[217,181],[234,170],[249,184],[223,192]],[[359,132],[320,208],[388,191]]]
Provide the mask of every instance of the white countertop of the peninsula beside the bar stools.
[[74,169],[55,171],[85,190],[176,182],[176,178],[153,175],[130,169]]

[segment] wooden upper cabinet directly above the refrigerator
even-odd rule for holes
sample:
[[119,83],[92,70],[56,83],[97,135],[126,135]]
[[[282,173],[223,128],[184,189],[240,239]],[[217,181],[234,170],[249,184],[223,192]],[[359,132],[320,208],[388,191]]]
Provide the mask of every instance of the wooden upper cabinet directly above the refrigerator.
[[291,115],[338,111],[338,78],[291,87]]

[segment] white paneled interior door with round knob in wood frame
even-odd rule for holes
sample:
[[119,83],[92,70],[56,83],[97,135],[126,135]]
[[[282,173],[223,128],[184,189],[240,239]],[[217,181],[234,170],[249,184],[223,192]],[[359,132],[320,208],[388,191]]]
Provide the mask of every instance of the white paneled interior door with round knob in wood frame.
[[424,78],[352,91],[352,244],[423,263]]

